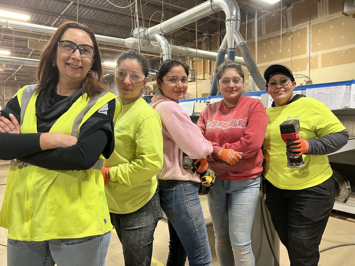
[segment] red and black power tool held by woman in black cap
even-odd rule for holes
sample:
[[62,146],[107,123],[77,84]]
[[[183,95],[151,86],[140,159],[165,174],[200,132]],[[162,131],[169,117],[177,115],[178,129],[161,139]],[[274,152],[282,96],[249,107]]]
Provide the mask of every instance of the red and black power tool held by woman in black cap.
[[[288,144],[291,141],[300,139],[300,121],[299,120],[287,120],[280,124],[280,133],[282,140]],[[295,156],[294,153],[286,151],[287,155],[287,167],[300,168],[304,167],[306,163],[303,161],[302,155]]]

